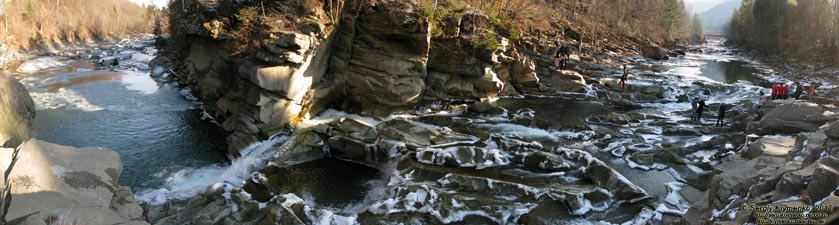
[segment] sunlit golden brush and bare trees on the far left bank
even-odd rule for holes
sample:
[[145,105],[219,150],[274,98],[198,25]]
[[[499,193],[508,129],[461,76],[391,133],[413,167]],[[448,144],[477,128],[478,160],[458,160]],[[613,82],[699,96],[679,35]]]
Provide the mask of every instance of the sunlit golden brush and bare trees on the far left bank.
[[35,49],[152,31],[158,10],[127,0],[10,0],[0,37],[11,49]]

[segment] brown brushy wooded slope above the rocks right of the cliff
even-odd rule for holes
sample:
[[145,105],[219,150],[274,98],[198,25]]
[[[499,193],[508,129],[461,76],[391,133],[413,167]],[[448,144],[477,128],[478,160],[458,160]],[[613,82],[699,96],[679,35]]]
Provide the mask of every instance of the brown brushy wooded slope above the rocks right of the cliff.
[[[509,39],[536,37],[548,42],[563,36],[589,49],[618,49],[626,42],[676,46],[696,40],[693,21],[681,0],[421,0],[432,23],[451,22],[450,14],[480,12],[492,30]],[[436,26],[437,28],[442,26]],[[435,36],[447,35],[432,30]],[[480,37],[478,42],[486,42]]]

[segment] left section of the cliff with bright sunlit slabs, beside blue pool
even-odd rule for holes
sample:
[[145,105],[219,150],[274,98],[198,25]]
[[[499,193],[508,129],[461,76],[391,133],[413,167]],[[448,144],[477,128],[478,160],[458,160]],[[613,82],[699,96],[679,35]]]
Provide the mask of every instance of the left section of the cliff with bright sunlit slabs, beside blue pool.
[[[231,154],[256,140],[310,117],[327,106],[342,83],[324,79],[334,24],[326,25],[319,7],[294,2],[266,7],[290,7],[300,27],[269,26],[242,37],[233,27],[236,16],[251,3],[218,6],[187,1],[196,10],[175,15],[174,63],[180,84],[189,86],[225,131]],[[287,4],[287,5],[286,5]],[[242,28],[245,29],[245,28]],[[250,32],[250,31],[246,31]]]

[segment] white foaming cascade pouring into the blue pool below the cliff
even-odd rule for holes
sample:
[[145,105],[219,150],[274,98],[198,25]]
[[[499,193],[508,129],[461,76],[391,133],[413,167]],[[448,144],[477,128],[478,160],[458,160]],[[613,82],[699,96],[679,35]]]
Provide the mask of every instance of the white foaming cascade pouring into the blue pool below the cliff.
[[240,151],[241,157],[230,165],[211,165],[201,168],[189,168],[176,172],[166,179],[166,184],[158,189],[142,190],[135,198],[151,205],[160,205],[172,199],[184,199],[198,195],[207,187],[239,186],[250,174],[262,168],[270,155],[277,149],[277,144],[286,142],[287,136],[275,136],[268,140],[249,145]]

